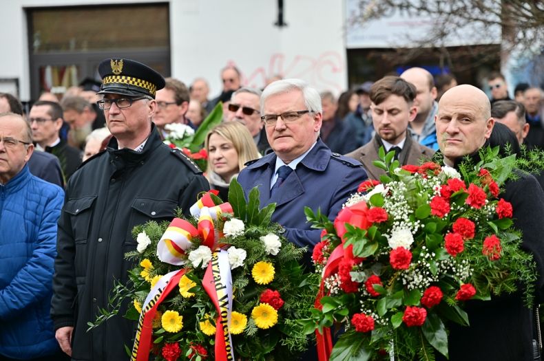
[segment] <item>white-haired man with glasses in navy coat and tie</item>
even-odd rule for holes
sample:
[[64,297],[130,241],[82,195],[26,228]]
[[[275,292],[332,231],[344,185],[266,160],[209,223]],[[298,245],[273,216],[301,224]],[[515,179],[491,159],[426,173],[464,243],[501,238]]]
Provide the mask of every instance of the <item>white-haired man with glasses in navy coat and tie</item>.
[[262,92],[260,113],[274,152],[249,162],[238,182],[246,195],[258,186],[261,206],[276,204],[272,221],[284,226],[289,241],[308,246],[311,252],[321,231],[306,222],[304,207],[320,209],[334,219],[367,178],[366,172],[359,162],[332,153],[320,140],[320,94],[303,80],[268,85]]

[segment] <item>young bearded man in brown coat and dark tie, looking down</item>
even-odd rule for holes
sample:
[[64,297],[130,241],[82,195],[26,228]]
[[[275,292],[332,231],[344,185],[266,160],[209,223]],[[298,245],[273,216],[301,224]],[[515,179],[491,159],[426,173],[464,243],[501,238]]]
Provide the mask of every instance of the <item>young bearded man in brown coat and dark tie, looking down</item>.
[[417,91],[412,83],[398,76],[381,78],[370,88],[370,111],[376,135],[359,149],[346,154],[361,162],[371,179],[379,179],[386,172],[373,164],[378,160],[381,146],[385,151],[395,151],[395,159],[401,165],[430,160],[432,149],[412,140],[408,124],[415,119],[417,109],[413,105]]

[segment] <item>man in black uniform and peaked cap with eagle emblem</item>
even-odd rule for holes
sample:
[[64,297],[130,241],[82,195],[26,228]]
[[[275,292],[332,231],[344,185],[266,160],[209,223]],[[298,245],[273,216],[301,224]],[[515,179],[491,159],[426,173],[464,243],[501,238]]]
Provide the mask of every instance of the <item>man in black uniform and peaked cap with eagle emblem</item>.
[[107,59],[98,107],[113,138],[107,150],[83,163],[67,184],[57,241],[51,316],[56,339],[72,360],[128,360],[135,322],[118,316],[87,332],[98,309],[107,308],[116,281],[127,282],[136,249],[132,228],[149,220],[186,215],[198,193],[209,189],[199,168],[169,149],[151,122],[163,76],[129,59]]

